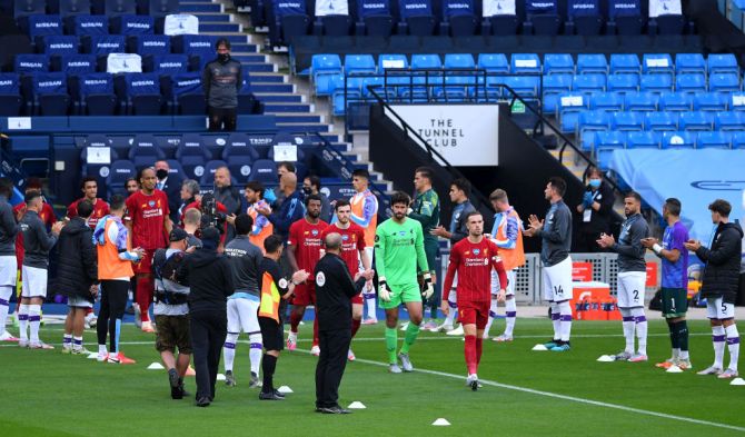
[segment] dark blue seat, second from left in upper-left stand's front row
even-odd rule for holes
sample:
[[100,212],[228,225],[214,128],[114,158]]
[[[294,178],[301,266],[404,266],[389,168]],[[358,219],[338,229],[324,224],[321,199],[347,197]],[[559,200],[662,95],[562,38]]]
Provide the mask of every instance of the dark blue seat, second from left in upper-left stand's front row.
[[31,102],[37,116],[63,117],[70,111],[67,75],[63,72],[34,72],[23,79],[24,89],[30,90],[27,101]]

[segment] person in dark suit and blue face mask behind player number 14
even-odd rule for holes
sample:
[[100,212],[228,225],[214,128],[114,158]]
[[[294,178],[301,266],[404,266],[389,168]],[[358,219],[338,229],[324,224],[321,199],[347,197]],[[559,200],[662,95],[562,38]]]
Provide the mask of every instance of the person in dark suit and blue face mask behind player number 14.
[[613,188],[603,180],[603,171],[592,167],[588,172],[589,180],[585,189],[583,202],[577,205],[577,212],[582,216],[579,225],[579,238],[577,239],[577,252],[603,251],[595,241],[602,234],[610,234],[610,218],[613,217]]

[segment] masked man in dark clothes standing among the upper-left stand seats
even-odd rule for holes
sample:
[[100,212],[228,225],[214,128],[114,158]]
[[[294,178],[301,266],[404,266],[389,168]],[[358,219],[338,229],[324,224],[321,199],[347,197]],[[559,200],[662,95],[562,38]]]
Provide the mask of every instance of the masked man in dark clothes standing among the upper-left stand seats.
[[217,58],[205,66],[201,85],[207,96],[209,130],[236,130],[238,91],[242,82],[240,62],[230,58],[230,41],[220,38],[215,44]]

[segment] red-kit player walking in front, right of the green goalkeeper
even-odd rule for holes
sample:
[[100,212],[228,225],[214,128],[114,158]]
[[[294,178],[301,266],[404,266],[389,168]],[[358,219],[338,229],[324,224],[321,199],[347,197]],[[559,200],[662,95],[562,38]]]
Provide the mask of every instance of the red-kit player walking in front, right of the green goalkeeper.
[[[453,286],[455,274],[458,274],[457,302],[458,317],[463,324],[466,335],[466,367],[468,378],[466,385],[471,390],[478,389],[478,362],[481,360],[481,346],[484,342],[484,327],[489,318],[489,306],[491,305],[491,269],[499,276],[500,290],[497,300],[505,300],[505,288],[507,287],[507,274],[498,256],[497,245],[488,238],[484,238],[484,217],[478,211],[469,212],[466,217],[468,237],[456,242],[450,249],[450,262],[447,266],[447,275],[443,290],[449,290]],[[445,297],[441,305],[446,315],[450,306]]]

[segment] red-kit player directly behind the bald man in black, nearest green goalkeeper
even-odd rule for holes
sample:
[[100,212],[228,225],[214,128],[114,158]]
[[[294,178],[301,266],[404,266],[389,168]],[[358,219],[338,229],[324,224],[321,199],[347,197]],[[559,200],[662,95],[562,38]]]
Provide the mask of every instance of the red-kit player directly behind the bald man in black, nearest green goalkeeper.
[[[370,257],[365,251],[365,229],[361,226],[351,221],[351,205],[348,200],[339,199],[334,207],[337,221],[332,222],[321,234],[321,239],[325,241],[326,236],[332,232],[341,235],[341,259],[347,265],[349,276],[352,278],[361,270],[370,269]],[[351,337],[354,338],[359,330],[359,325],[362,319],[362,309],[365,301],[362,294],[351,298]],[[355,354],[351,348],[347,352],[347,358],[350,361],[355,360]]]

